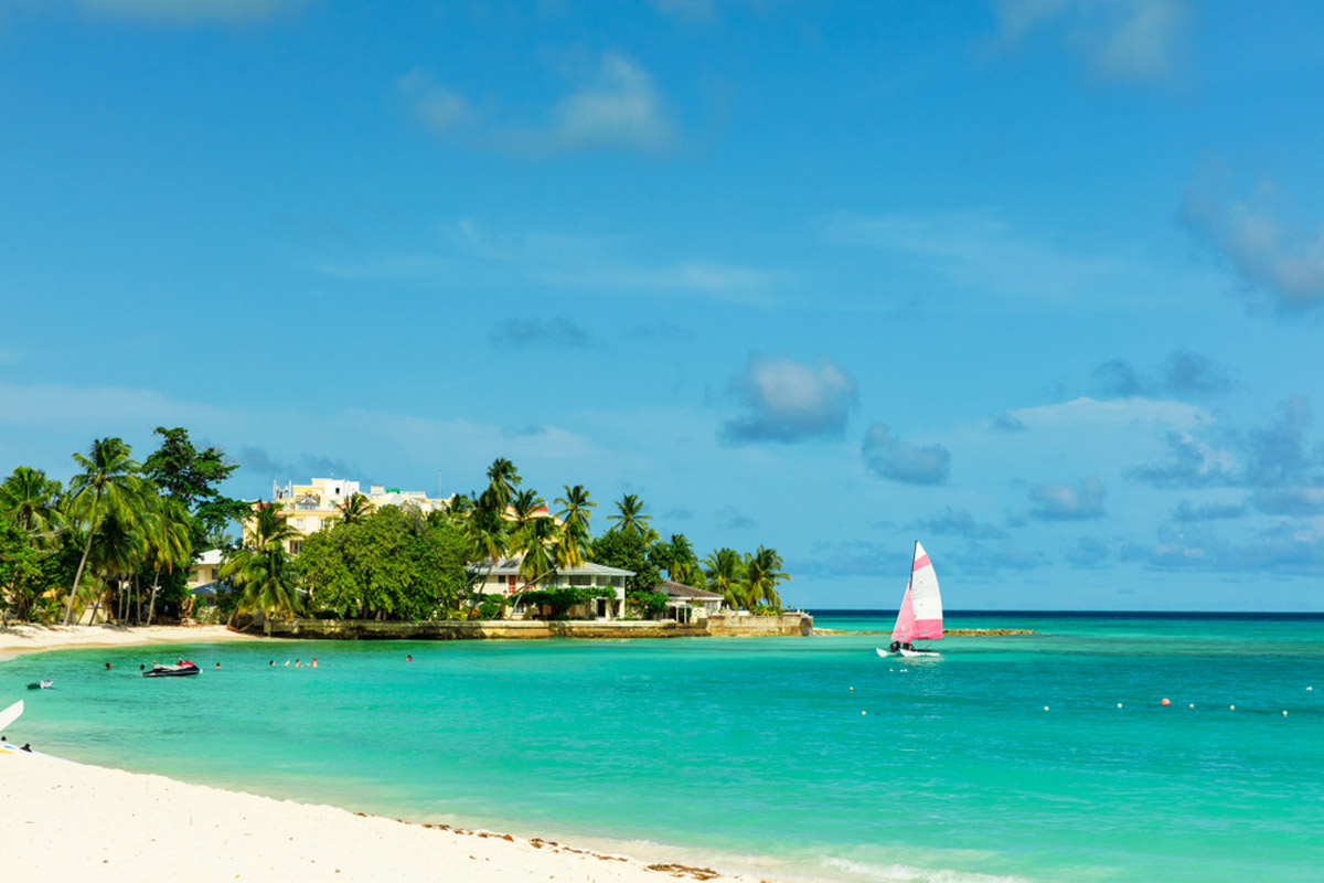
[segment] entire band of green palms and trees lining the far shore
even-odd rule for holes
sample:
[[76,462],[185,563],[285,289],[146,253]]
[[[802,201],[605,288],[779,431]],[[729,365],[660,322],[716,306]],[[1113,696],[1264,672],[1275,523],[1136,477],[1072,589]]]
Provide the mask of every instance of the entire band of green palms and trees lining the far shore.
[[[224,451],[195,446],[183,428],[155,434],[159,447],[142,462],[120,438],[93,441],[73,454],[68,486],[28,466],[0,482],[5,622],[176,621],[193,604],[191,567],[213,548],[224,552],[217,604],[234,625],[297,616],[494,618],[508,606],[592,616],[593,602],[614,597],[613,589],[555,579],[585,563],[630,571],[626,616],[645,618],[666,612],[663,580],[763,613],[780,610],[779,586],[790,579],[781,556],[763,545],[700,559],[683,534],[662,539],[636,494],[613,502],[606,530],[594,536],[598,503],[583,485],[564,485],[548,507],[504,458],[486,470],[486,486],[457,494],[442,511],[373,507],[354,494],[306,535],[279,503],[221,492],[238,467]],[[234,540],[229,531],[238,523],[242,539]],[[512,592],[485,594],[498,565],[514,573]]]

